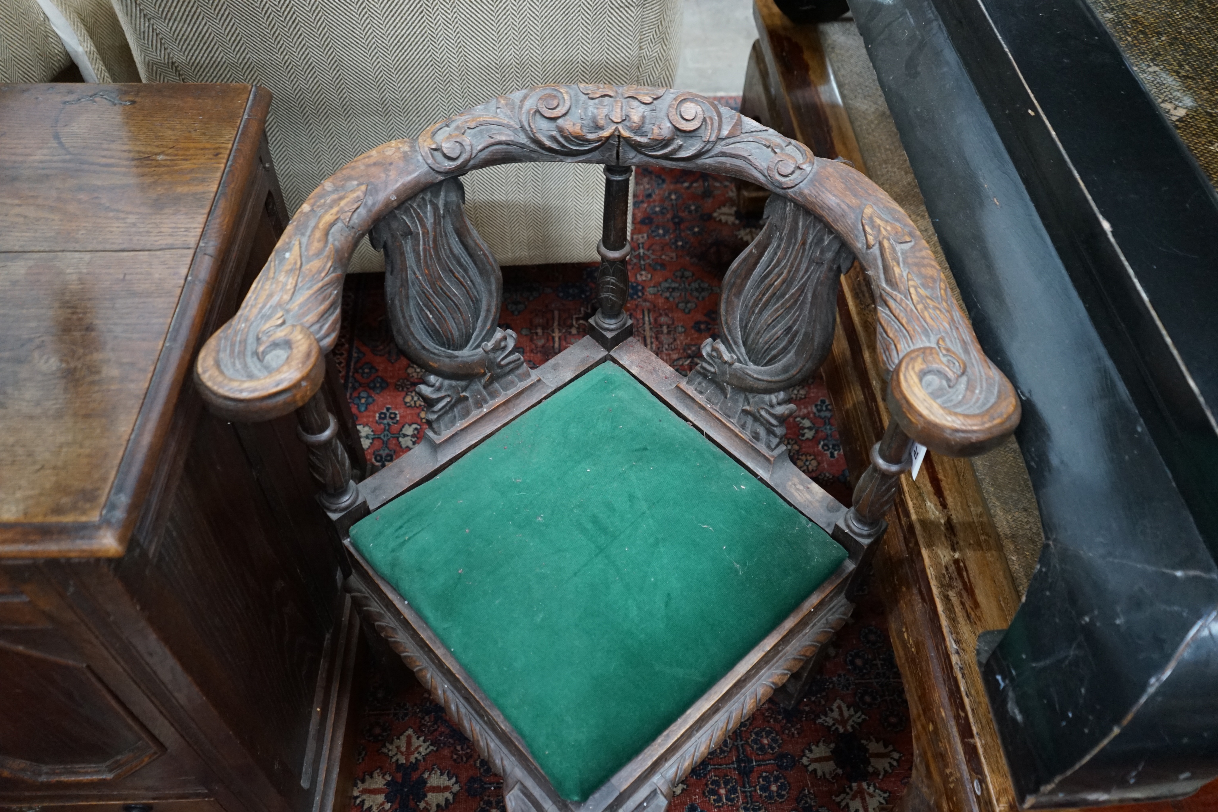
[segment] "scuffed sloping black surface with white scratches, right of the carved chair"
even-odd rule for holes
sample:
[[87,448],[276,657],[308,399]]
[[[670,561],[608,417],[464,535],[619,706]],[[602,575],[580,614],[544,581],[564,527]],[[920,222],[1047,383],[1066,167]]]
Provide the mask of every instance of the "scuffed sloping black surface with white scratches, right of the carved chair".
[[[1172,370],[1147,368],[1155,348],[1125,324],[1145,313],[1122,309],[1128,279],[1106,275],[1119,252],[1099,213],[1077,205],[1085,184],[1027,112],[985,15],[966,6],[980,9],[851,0],[978,338],[1024,398],[1017,437],[1045,547],[985,662],[991,709],[1027,802],[1188,794],[1218,774],[1218,569],[1197,503],[1218,477],[1209,465],[1186,499],[1172,469],[1196,476],[1201,458],[1181,466],[1181,454],[1208,436]],[[1173,295],[1200,297],[1189,304],[1203,313],[1206,279],[1181,271]]]

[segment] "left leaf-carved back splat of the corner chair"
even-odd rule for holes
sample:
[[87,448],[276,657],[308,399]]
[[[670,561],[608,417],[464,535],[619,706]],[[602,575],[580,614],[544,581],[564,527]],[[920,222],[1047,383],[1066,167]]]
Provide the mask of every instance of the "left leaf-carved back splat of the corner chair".
[[499,265],[465,217],[451,178],[406,201],[373,228],[385,252],[393,338],[428,370],[418,388],[428,431],[443,436],[530,380],[516,334],[497,325]]

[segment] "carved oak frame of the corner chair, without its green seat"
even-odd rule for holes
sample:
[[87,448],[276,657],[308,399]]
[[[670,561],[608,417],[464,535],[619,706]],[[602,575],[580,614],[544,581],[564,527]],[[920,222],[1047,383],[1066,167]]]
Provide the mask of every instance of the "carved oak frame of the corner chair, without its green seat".
[[[465,218],[457,178],[524,161],[605,164],[599,310],[588,337],[531,370],[497,326],[499,268]],[[682,377],[631,337],[626,223],[636,166],[727,174],[772,192],[766,224],[723,279],[719,340]],[[385,252],[393,335],[426,371],[429,429],[401,460],[352,481],[319,393],[335,342],[342,276],[358,240]],[[871,466],[840,505],[782,444],[789,388],[828,353],[838,276],[855,264],[876,297],[893,414]],[[554,85],[501,96],[417,141],[380,146],[301,206],[241,309],[203,347],[208,407],[256,421],[296,410],[323,505],[352,523],[430,477],[513,418],[600,363],[616,363],[845,547],[849,559],[655,741],[583,803],[561,799],[502,713],[396,590],[345,538],[347,589],[370,622],[504,778],[510,812],[663,811],[672,789],[776,690],[798,701],[821,645],[845,622],[853,589],[885,527],[915,442],[949,455],[1010,435],[1019,403],[985,358],[905,213],[849,164],[812,156],[689,93]],[[795,679],[790,679],[795,676]],[[794,688],[793,688],[794,685]]]

